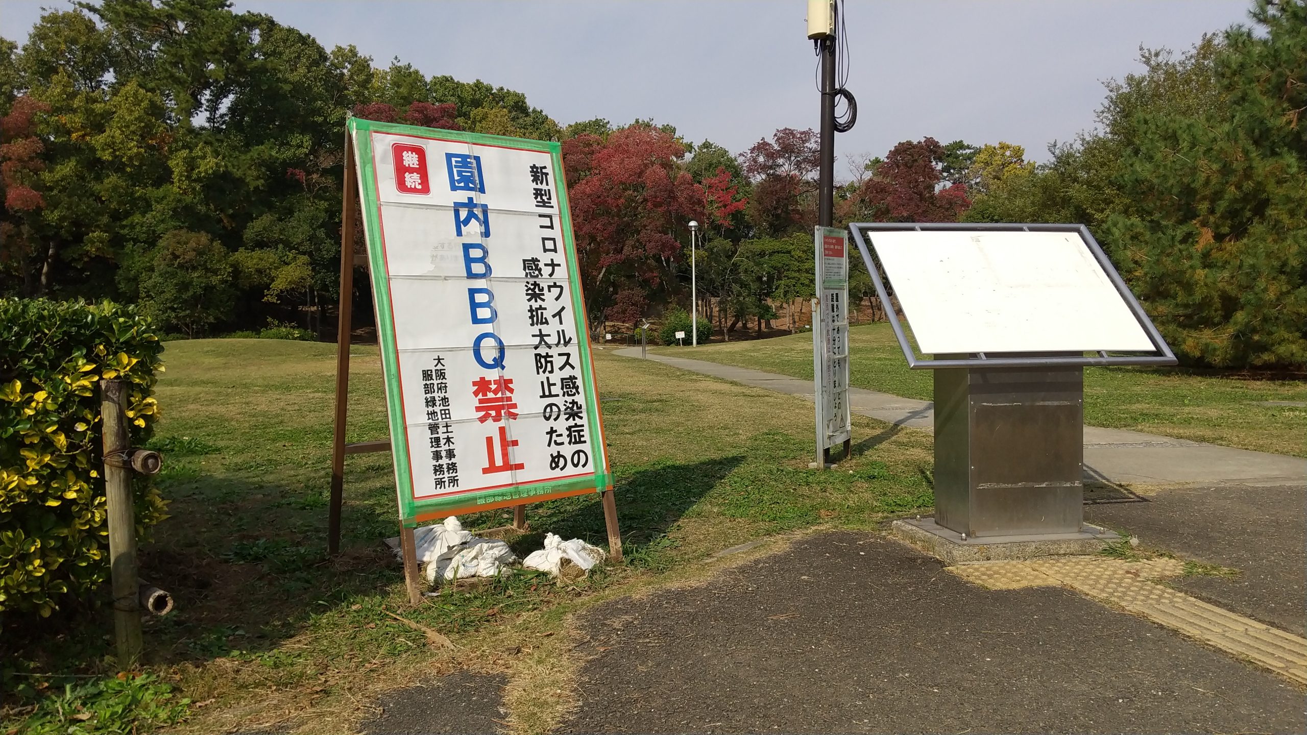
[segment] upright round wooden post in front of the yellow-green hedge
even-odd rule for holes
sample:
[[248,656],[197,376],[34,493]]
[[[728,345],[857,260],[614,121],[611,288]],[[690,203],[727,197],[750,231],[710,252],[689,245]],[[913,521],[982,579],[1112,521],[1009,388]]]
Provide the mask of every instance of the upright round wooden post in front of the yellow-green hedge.
[[141,608],[136,581],[136,518],[132,468],[127,460],[127,382],[101,382],[101,429],[105,446],[105,506],[108,514],[108,560],[114,590],[114,633],[118,663],[131,668],[141,657]]

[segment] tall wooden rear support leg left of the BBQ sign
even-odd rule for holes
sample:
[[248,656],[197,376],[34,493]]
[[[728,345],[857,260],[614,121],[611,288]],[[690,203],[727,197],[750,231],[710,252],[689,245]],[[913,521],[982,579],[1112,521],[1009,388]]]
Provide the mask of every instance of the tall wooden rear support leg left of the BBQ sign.
[[[340,306],[336,327],[336,422],[331,447],[331,506],[327,553],[340,551],[340,510],[345,494],[345,417],[349,408],[349,337],[354,330],[354,141],[345,133],[345,194],[340,212]],[[409,531],[409,539],[413,532]]]

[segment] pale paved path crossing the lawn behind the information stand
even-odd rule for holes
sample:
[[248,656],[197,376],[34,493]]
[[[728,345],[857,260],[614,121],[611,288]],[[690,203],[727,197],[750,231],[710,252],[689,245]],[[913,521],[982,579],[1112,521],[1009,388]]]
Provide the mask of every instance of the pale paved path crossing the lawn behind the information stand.
[[[639,348],[614,350],[639,358]],[[719,365],[704,360],[648,353],[650,360],[736,383],[813,398],[812,381]],[[914,429],[935,429],[935,404],[863,388],[848,390],[853,413]],[[1307,460],[1223,447],[1124,429],[1085,426],[1085,479],[1121,484],[1302,485]]]

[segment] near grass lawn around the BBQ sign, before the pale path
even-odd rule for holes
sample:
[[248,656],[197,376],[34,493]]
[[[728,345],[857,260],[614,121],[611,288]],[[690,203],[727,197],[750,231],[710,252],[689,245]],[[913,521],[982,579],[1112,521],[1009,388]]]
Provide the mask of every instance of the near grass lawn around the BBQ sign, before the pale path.
[[[412,608],[380,543],[397,534],[388,454],[346,460],[344,552],[325,556],[335,349],[169,343],[156,443],[171,517],[141,558],[142,577],[171,590],[178,608],[146,624],[141,679],[114,676],[107,608],[56,616],[0,643],[0,687],[12,693],[0,701],[0,732],[166,723],[180,732],[350,732],[375,713],[376,693],[455,668],[506,674],[510,730],[544,732],[575,701],[569,615],[708,574],[729,561],[702,561],[741,541],[868,527],[932,502],[927,433],[855,417],[855,456],[836,471],[808,470],[809,403],[597,350],[626,561],[571,586],[518,573]],[[383,438],[375,348],[354,348],[350,387],[350,441]],[[527,517],[519,556],[540,548],[545,531],[606,539],[595,496],[529,506]],[[511,510],[463,521],[505,526]],[[429,647],[387,612],[448,636],[457,650]],[[532,687],[542,677],[549,694]]]

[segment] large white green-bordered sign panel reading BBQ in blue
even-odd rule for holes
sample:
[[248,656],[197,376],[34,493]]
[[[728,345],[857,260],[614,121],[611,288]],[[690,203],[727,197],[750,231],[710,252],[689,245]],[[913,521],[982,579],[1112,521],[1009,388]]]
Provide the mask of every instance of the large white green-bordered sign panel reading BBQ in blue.
[[349,133],[400,517],[610,489],[559,145]]

